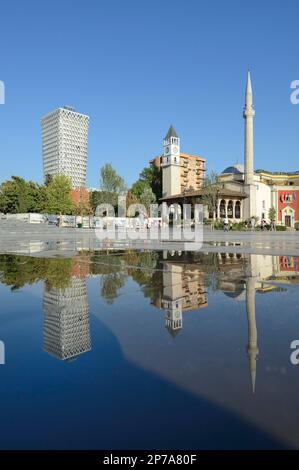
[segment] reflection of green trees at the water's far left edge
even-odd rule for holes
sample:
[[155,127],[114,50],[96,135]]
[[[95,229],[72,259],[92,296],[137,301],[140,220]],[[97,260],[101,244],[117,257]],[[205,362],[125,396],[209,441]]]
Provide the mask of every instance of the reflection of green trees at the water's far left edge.
[[73,260],[70,258],[31,258],[1,255],[0,280],[12,290],[41,280],[51,287],[64,289],[69,285]]

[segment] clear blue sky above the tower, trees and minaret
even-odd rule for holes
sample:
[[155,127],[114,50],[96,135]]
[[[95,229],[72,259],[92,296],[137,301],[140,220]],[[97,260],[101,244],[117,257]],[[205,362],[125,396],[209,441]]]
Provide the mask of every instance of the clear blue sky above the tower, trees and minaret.
[[89,186],[106,162],[131,184],[170,123],[208,170],[242,162],[248,65],[255,168],[299,170],[298,21],[297,0],[2,1],[0,181],[42,181],[40,118],[65,104],[90,116]]

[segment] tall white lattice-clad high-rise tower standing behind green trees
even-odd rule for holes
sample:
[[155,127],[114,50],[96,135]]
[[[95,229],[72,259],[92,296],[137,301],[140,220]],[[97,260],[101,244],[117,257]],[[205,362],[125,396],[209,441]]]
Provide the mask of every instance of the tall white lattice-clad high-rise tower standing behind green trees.
[[89,117],[64,106],[42,118],[44,179],[70,177],[73,188],[86,185]]

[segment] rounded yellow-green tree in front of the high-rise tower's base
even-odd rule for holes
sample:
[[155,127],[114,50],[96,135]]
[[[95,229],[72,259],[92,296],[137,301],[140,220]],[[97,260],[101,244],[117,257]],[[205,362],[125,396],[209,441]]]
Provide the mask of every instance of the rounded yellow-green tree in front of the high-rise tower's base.
[[[56,175],[47,186],[47,212],[50,214],[72,214],[71,181],[65,175]],[[61,220],[61,217],[60,217]]]

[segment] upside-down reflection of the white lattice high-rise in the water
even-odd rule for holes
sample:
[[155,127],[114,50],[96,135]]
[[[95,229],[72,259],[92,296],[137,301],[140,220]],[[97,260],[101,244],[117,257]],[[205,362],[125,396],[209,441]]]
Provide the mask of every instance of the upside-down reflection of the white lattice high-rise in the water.
[[90,351],[86,279],[71,278],[69,287],[45,285],[44,350],[62,360]]

